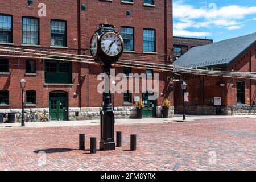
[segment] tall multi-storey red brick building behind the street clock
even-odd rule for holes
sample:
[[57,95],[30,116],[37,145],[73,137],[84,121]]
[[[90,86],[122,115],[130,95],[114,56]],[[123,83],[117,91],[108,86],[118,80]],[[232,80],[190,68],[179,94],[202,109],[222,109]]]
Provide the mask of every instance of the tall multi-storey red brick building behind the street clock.
[[[2,1],[0,112],[20,112],[19,82],[24,77],[27,81],[26,110],[46,109],[53,119],[99,118],[102,106],[102,96],[97,92],[100,82],[97,75],[102,72],[99,65],[59,61],[52,57],[33,59],[38,56],[26,53],[18,57],[3,47],[89,55],[90,38],[105,18],[125,39],[121,59],[160,64],[172,61],[171,0],[35,0],[31,5],[27,0]],[[150,42],[148,37],[152,38]],[[145,70],[116,67],[115,72],[142,73]],[[167,73],[154,73],[160,73],[159,98],[147,101],[145,110],[152,112],[145,117],[161,117],[159,106],[163,98],[170,98],[173,103],[172,92],[168,89],[172,80],[167,80],[170,78]],[[135,117],[135,96],[147,100],[142,93],[115,94],[117,117]]]

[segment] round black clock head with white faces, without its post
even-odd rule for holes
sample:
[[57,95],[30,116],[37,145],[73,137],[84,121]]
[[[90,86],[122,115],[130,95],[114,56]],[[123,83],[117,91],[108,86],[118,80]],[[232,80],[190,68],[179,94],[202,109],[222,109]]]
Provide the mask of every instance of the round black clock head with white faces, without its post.
[[123,39],[112,24],[100,24],[90,39],[90,54],[96,63],[112,64],[123,53]]

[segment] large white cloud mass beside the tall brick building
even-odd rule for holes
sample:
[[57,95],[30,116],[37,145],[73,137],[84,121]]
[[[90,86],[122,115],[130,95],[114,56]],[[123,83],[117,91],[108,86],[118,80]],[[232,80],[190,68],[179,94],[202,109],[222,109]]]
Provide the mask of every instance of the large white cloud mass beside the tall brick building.
[[[206,5],[206,3],[205,3]],[[207,36],[209,32],[188,31],[188,28],[225,28],[238,30],[247,21],[247,15],[256,14],[256,6],[223,6],[215,3],[196,8],[184,5],[183,1],[174,2],[174,35],[175,36]],[[256,18],[252,19],[256,20]]]

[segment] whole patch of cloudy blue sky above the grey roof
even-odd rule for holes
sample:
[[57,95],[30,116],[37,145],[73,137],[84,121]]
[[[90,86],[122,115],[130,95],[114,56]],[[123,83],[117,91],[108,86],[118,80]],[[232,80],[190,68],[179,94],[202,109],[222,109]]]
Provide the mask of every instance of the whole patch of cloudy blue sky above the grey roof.
[[256,0],[174,0],[174,36],[214,42],[256,32]]

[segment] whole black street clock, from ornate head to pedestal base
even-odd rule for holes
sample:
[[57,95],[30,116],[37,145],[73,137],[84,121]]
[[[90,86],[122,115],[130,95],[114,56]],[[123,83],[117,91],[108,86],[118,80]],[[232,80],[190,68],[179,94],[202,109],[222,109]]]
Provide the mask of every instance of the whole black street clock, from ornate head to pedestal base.
[[[106,39],[112,38],[113,35],[115,40],[110,40],[112,42],[111,44],[102,42],[102,40],[105,41]],[[97,39],[96,42],[95,39]],[[117,55],[114,55],[113,52],[110,52],[110,49],[114,43],[117,46],[117,48],[114,50],[114,53],[117,52]],[[96,63],[102,64],[103,73],[106,73],[106,75],[109,77],[110,69],[112,68],[111,64],[116,63],[123,53],[123,39],[120,36],[118,30],[115,29],[114,25],[108,23],[99,25],[98,30],[94,32],[94,35],[91,39],[90,52]],[[114,111],[110,105],[110,92],[103,94],[103,100],[104,106],[100,113],[100,150],[115,150]]]

